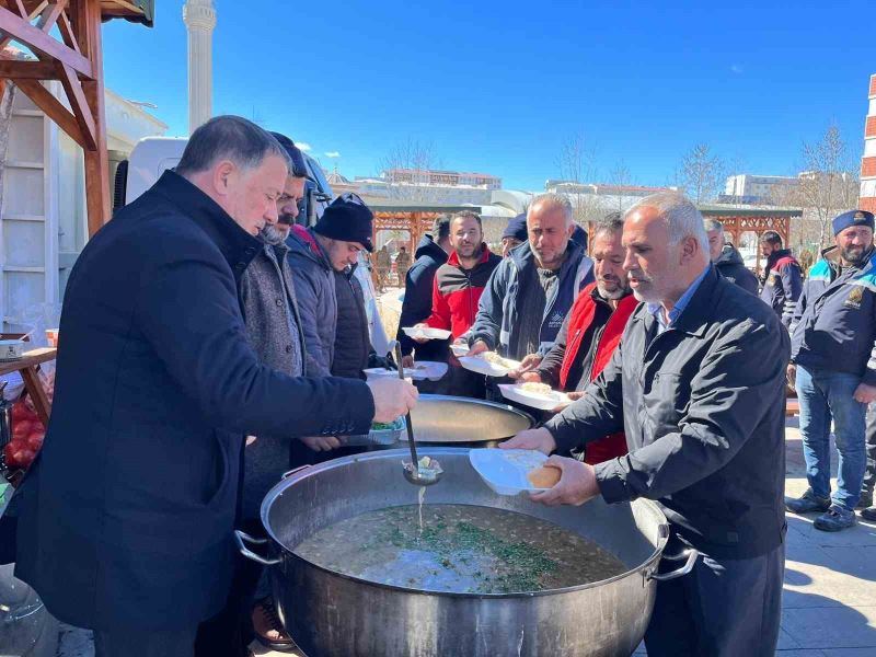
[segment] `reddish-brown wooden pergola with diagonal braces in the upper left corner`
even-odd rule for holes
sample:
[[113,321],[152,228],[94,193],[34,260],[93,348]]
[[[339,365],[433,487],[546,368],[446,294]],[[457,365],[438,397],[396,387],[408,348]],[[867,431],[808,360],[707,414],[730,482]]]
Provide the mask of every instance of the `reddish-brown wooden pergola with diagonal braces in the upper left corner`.
[[[84,151],[89,235],[111,217],[101,24],[152,24],[153,0],[0,0],[0,97],[12,82]],[[60,41],[50,32],[57,27]],[[35,59],[7,49],[16,42]],[[44,85],[58,80],[70,108]]]

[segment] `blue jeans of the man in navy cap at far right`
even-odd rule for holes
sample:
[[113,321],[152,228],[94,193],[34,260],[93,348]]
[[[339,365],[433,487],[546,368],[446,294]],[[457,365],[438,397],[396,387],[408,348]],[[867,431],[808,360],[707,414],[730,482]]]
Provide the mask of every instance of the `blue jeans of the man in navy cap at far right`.
[[866,469],[864,427],[867,406],[854,400],[861,377],[797,366],[800,436],[806,479],[818,497],[830,497],[830,423],[839,452],[833,504],[853,510]]

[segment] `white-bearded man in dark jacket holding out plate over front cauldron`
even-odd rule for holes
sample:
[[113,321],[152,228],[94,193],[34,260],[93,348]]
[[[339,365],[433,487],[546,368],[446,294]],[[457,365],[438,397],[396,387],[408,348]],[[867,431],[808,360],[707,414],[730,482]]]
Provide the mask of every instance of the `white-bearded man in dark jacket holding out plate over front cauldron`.
[[580,400],[503,447],[550,453],[623,428],[627,456],[596,466],[552,457],[560,483],[533,499],[654,499],[669,520],[665,553],[700,552],[689,574],[657,584],[650,657],[772,657],[784,569],[787,332],[710,265],[702,217],[681,195],[636,204],[623,244],[645,303],[612,360]]

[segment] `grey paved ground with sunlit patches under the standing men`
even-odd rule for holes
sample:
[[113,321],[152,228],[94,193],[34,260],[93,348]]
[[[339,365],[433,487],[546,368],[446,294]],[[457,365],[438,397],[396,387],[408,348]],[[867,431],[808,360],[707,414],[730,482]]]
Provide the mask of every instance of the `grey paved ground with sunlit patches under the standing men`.
[[[788,495],[806,489],[799,431],[785,431]],[[835,463],[833,466],[835,475]],[[876,525],[838,534],[816,531],[812,517],[788,514],[785,595],[779,657],[876,656]],[[88,633],[62,629],[59,657],[91,657]],[[264,650],[256,655],[281,657]],[[645,655],[639,648],[636,655]]]

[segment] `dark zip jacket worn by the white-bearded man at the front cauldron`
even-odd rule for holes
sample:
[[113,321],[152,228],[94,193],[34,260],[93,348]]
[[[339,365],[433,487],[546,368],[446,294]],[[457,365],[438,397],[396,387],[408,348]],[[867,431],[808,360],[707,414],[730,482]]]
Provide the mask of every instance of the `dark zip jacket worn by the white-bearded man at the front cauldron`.
[[596,465],[606,502],[657,500],[710,556],[765,554],[785,532],[787,331],[714,268],[669,328],[656,323],[639,304],[611,362],[545,426],[561,451],[625,431],[630,453]]

